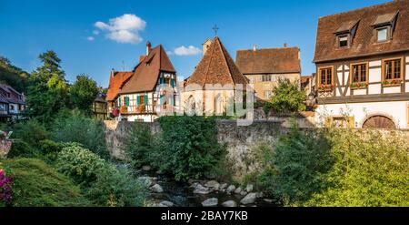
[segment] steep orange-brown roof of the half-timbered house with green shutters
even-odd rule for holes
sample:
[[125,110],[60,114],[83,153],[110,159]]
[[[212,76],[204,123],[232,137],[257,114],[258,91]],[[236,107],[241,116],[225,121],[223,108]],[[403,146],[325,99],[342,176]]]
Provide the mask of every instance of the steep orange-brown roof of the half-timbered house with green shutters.
[[125,83],[119,93],[152,91],[160,72],[176,72],[162,45],[152,48],[149,55],[135,67],[134,76]]

